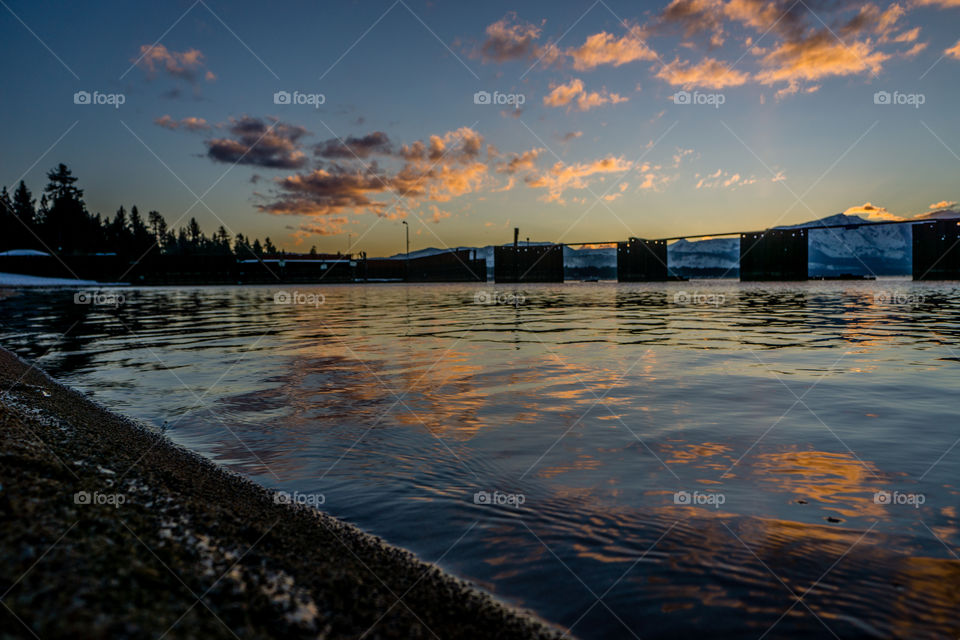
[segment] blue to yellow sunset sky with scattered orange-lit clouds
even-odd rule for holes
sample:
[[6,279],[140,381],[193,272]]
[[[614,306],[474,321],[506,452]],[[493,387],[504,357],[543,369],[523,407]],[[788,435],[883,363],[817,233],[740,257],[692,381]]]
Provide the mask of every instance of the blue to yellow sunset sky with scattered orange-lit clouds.
[[960,199],[960,0],[0,0],[0,184],[291,251]]

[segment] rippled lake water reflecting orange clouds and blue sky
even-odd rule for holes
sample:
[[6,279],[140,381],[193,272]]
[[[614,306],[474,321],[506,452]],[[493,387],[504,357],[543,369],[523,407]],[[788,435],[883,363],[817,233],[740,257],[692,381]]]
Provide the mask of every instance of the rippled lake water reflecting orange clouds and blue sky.
[[960,634],[956,283],[285,291],[6,292],[0,343],[574,636]]

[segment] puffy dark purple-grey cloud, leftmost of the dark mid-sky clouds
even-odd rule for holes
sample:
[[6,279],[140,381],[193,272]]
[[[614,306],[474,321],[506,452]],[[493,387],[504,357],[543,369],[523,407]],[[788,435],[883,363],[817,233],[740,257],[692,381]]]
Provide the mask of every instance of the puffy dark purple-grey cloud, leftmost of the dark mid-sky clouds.
[[306,129],[268,118],[231,118],[226,129],[233,138],[206,140],[207,156],[218,162],[246,164],[268,169],[299,169],[307,164],[300,149]]

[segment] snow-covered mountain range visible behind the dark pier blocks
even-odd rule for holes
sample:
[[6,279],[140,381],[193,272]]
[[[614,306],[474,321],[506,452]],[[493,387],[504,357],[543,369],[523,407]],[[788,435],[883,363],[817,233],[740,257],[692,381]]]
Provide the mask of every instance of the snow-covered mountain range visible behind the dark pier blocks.
[[[960,212],[950,209],[918,216],[917,221],[960,218]],[[843,213],[781,229],[805,227],[810,229],[810,275],[906,275],[913,260],[911,225],[871,225],[874,222],[860,216]],[[851,228],[818,229],[817,227],[845,225]],[[546,243],[531,243],[546,244]],[[461,247],[463,248],[463,247]],[[469,247],[477,258],[485,258],[487,269],[493,273],[493,246]],[[446,249],[421,249],[410,252],[410,257],[440,253]],[[402,258],[403,254],[391,256]],[[616,278],[617,250],[615,248],[574,249],[564,247],[564,267],[571,279],[600,277]],[[739,275],[740,239],[736,237],[706,240],[678,240],[667,246],[667,264],[671,273],[694,277],[730,277]]]

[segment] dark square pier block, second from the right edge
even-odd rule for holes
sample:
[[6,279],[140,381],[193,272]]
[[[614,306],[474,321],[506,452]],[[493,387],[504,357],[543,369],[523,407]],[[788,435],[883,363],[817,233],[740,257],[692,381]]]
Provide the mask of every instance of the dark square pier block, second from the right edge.
[[741,233],[741,282],[806,280],[807,240],[807,229]]

